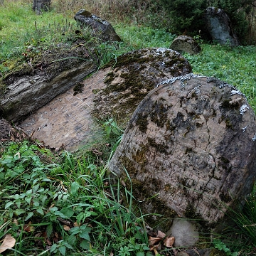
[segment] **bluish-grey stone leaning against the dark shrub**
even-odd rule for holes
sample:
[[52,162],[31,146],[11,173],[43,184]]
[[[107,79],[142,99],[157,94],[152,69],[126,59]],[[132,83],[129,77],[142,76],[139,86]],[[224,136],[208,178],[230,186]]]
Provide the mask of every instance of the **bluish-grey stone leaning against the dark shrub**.
[[215,7],[206,9],[204,15],[206,27],[213,41],[220,45],[239,46],[238,36],[233,31],[230,18],[225,11]]

